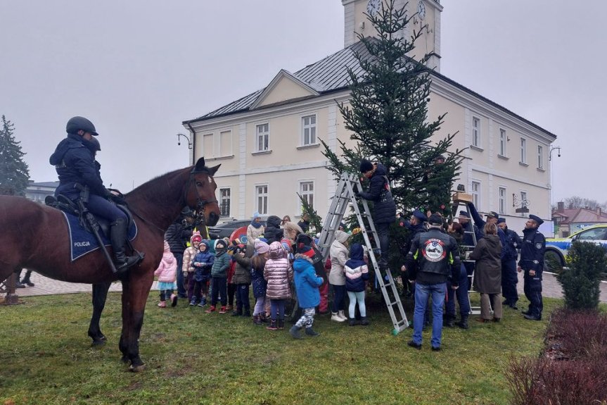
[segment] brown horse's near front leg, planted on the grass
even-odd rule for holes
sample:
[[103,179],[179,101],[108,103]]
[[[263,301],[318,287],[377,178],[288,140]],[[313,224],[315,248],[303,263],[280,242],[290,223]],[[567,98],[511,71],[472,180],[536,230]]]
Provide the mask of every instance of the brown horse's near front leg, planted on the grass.
[[[127,311],[126,313],[122,311],[123,339],[121,339],[121,344],[126,346],[127,356],[131,361],[129,369],[134,372],[145,369],[145,364],[139,357],[139,334],[143,325],[143,313],[146,309],[153,278],[154,275],[151,271],[132,274],[127,294],[122,292],[122,305],[124,307],[124,304],[127,304]],[[124,351],[122,353],[124,354]]]

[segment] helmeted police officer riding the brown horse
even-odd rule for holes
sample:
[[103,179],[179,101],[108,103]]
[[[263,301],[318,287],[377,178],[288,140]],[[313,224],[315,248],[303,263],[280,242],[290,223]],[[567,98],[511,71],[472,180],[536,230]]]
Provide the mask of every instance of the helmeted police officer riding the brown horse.
[[68,137],[59,142],[49,159],[59,175],[55,196],[63,194],[72,201],[77,201],[81,196],[76,185],[89,188],[87,208],[95,216],[110,221],[110,242],[114,251],[115,268],[117,273],[123,273],[138,263],[141,256],[127,256],[125,252],[127,215],[110,201],[122,199],[103,186],[98,166],[95,164],[96,151],[101,148],[94,137],[99,134],[95,125],[84,117],[70,118],[65,130]]

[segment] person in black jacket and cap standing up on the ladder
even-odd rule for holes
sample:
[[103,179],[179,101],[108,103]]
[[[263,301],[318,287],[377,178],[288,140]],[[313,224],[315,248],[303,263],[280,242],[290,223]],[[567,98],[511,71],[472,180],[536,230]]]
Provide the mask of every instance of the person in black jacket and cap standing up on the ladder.
[[381,163],[371,163],[366,159],[360,162],[360,172],[369,179],[369,190],[367,192],[356,192],[356,197],[373,201],[373,223],[379,238],[381,257],[378,261],[379,268],[388,268],[388,246],[390,237],[388,230],[390,224],[396,220],[396,204],[390,192],[388,170]]

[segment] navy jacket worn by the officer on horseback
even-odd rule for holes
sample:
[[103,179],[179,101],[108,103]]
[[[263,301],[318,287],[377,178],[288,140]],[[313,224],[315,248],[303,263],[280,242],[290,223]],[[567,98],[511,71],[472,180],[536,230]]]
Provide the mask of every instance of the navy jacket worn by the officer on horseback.
[[[90,144],[90,146],[89,146]],[[68,134],[59,142],[49,162],[55,166],[59,175],[59,187],[55,195],[63,194],[70,199],[77,199],[80,191],[75,184],[89,186],[89,192],[106,197],[106,187],[95,166],[94,145],[79,135]]]

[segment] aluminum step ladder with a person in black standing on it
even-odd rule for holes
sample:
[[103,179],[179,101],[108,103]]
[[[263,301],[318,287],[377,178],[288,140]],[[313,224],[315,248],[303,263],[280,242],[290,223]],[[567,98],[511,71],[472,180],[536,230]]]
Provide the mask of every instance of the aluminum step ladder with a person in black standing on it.
[[[328,209],[328,214],[324,221],[318,246],[321,249],[324,261],[326,261],[329,250],[331,249],[331,244],[333,243],[333,240],[335,240],[335,232],[339,229],[339,225],[348,206],[351,206],[354,209],[354,213],[356,213],[359,227],[367,247],[369,261],[371,261],[373,269],[375,269],[376,280],[378,281],[381,293],[383,294],[383,299],[388,307],[390,319],[392,319],[392,325],[394,326],[392,335],[397,335],[401,330],[409,327],[409,321],[407,320],[407,315],[404,313],[404,308],[400,301],[400,296],[396,288],[395,280],[390,272],[390,268],[386,268],[385,276],[381,274],[379,269],[375,256],[375,252],[379,249],[379,238],[373,220],[371,219],[369,206],[366,204],[365,199],[361,199],[360,203],[362,203],[363,207],[363,211],[361,211],[359,209],[359,203],[356,197],[354,197],[354,192],[362,191],[362,185],[356,175],[352,173],[342,173],[336,188],[335,196],[333,197],[333,201],[331,202],[331,206]],[[365,225],[364,219],[366,219],[366,223],[369,225]],[[369,237],[369,234],[371,234],[372,238]],[[373,242],[371,242],[371,240]],[[373,244],[375,244],[375,246],[373,246]]]

